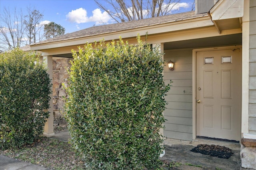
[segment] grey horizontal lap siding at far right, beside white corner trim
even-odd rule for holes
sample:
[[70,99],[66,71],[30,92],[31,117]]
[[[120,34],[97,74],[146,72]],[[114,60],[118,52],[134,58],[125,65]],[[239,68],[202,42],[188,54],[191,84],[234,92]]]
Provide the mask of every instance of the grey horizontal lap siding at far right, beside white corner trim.
[[256,134],[256,3],[250,1],[249,133]]

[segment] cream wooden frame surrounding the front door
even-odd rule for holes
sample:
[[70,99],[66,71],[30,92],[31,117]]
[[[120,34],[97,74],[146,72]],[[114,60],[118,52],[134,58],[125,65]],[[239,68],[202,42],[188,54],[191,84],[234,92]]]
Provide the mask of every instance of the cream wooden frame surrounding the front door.
[[[218,51],[218,50],[228,50],[228,49],[240,49],[240,56],[241,56],[240,63],[242,68],[242,45],[211,47],[211,48],[202,48],[202,49],[192,50],[192,140],[193,141],[196,139],[196,53],[200,51]],[[242,73],[241,73],[241,76],[242,76]],[[242,83],[241,83],[241,93],[242,93]],[[241,118],[242,118],[242,111],[241,111]]]

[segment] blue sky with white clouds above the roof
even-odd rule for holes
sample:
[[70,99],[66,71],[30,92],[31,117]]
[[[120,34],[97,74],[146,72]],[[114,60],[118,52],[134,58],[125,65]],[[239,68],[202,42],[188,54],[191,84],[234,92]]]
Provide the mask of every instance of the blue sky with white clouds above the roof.
[[[178,10],[174,13],[190,11],[193,2],[194,0],[181,0],[180,5],[177,6]],[[10,10],[16,7],[16,10],[21,8],[25,13],[28,6],[35,7],[43,13],[45,23],[53,21],[60,24],[66,29],[66,33],[93,25],[114,23],[106,12],[99,9],[94,0],[0,0],[0,12],[4,7]],[[4,27],[2,20],[0,27]]]

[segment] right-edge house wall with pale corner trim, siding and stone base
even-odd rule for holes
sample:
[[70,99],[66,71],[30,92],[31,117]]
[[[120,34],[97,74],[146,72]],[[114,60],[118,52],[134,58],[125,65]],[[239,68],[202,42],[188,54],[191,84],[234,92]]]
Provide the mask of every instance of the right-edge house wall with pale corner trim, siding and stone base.
[[[247,14],[248,12],[249,14]],[[245,24],[244,24],[245,22]],[[249,23],[249,26],[248,26]],[[242,110],[242,117],[246,124],[242,125],[243,138],[241,142],[240,156],[243,168],[256,169],[256,1],[244,1],[243,18],[243,44],[244,53],[249,52],[248,66],[248,113]],[[247,40],[248,37],[248,40]],[[248,43],[246,42],[248,41]],[[246,56],[243,56],[246,57]],[[246,91],[247,89],[243,89]],[[246,96],[246,95],[245,95]],[[245,105],[245,104],[244,104]],[[247,128],[247,129],[246,129]]]

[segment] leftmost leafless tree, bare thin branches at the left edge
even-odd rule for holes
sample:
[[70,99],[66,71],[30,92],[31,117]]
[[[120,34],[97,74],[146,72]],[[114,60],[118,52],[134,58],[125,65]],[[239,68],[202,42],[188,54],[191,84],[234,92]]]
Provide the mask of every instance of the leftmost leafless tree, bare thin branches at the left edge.
[[22,10],[10,13],[10,9],[4,8],[1,12],[1,20],[5,26],[0,25],[0,50],[6,51],[20,47],[24,35],[24,23]]

